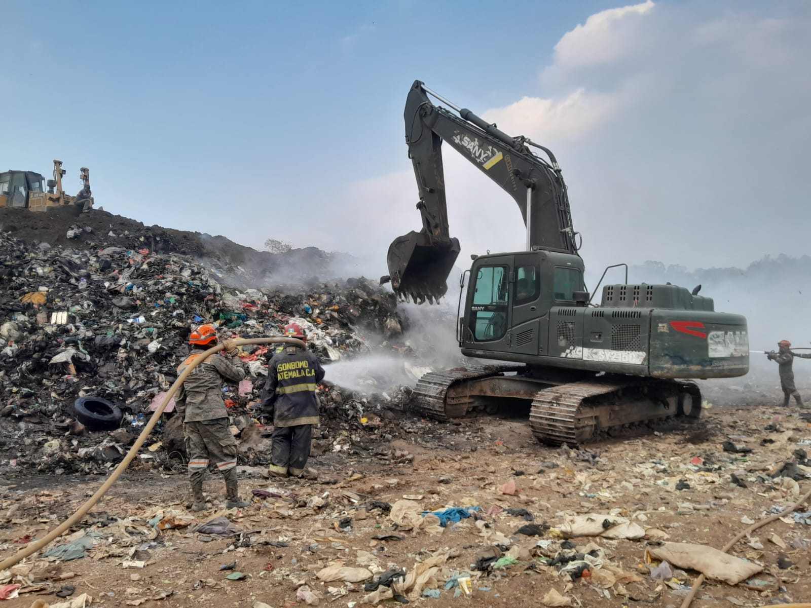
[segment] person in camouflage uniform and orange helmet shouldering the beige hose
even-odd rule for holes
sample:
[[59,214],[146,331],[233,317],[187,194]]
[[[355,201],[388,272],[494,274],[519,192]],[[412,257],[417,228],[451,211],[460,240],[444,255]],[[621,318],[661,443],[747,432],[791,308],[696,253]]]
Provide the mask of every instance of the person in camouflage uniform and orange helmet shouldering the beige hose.
[[[178,366],[178,375],[202,355],[217,345],[217,330],[201,325],[189,336],[192,352]],[[223,354],[225,353],[225,354]],[[238,349],[225,341],[225,350],[215,353],[191,370],[178,388],[175,409],[183,419],[183,437],[189,458],[192,511],[204,511],[203,477],[208,465],[214,465],[225,477],[225,507],[247,507],[239,499],[237,483],[237,440],[231,435],[228,410],[222,397],[225,379],[239,382],[245,378],[245,364],[237,357]]]

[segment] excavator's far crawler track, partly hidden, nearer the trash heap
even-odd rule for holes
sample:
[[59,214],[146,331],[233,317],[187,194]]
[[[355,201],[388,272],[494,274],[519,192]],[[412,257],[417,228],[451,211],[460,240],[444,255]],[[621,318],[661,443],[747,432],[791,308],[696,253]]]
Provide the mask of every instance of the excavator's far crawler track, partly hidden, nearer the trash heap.
[[523,366],[470,366],[453,370],[435,371],[423,375],[411,393],[410,407],[423,416],[447,421],[463,417],[478,409],[476,398],[470,395],[448,396],[448,389],[465,380],[486,378],[504,371],[515,371]]

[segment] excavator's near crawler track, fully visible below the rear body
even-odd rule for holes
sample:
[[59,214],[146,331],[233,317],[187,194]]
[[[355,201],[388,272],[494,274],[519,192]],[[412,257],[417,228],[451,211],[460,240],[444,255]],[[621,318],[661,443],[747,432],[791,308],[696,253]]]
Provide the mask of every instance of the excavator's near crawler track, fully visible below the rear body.
[[640,435],[701,416],[695,383],[654,379],[601,379],[539,391],[530,427],[542,443],[577,445]]

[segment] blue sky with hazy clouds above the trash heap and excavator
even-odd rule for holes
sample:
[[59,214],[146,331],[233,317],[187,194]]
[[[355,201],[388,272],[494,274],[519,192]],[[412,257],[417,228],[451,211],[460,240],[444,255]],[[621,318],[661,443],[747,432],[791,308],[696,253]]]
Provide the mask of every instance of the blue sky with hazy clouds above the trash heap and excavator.
[[[794,153],[809,143],[801,2],[0,5],[6,24],[26,24],[0,38],[0,110],[13,117],[2,169],[48,175],[59,158],[74,194],[87,166],[97,205],[147,225],[258,247],[280,238],[384,265],[385,244],[419,226],[402,109],[422,79],[553,146],[592,255],[707,266],[699,247],[719,264],[803,252],[765,245],[779,223],[762,203],[776,189],[800,213],[787,241],[807,234]],[[769,77],[779,79],[771,98]],[[759,154],[775,159],[761,180],[774,187],[740,186],[752,173],[742,163]],[[453,195],[448,186],[454,236],[471,251],[520,248],[511,201],[458,159],[446,165],[459,184]],[[667,222],[684,251],[661,236],[607,238],[618,213],[637,234],[661,230],[685,196],[695,206],[685,213],[715,212],[698,231],[694,215]]]

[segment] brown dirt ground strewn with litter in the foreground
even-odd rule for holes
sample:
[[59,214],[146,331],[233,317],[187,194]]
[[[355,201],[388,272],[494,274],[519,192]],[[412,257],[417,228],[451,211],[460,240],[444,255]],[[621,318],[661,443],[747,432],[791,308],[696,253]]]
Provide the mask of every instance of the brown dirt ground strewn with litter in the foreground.
[[[724,441],[750,447],[752,452],[725,452]],[[811,425],[800,417],[800,410],[766,406],[715,405],[697,426],[575,451],[540,446],[526,423],[517,418],[474,418],[452,424],[423,421],[414,425],[406,439],[390,446],[400,456],[409,452],[411,462],[409,458],[384,460],[362,449],[328,452],[311,460],[320,471],[319,482],[266,480],[260,469],[242,469],[243,496],[260,489],[292,496],[252,497],[251,506],[239,511],[218,508],[224,488],[221,479],[212,476],[205,488],[212,511],[202,514],[187,512],[182,474],[132,471],[75,529],[81,534],[81,529],[90,527],[101,535],[88,557],[67,562],[26,560],[24,564],[32,565],[24,568],[32,584],[24,585],[20,590],[25,593],[2,606],[32,606],[36,600],[51,605],[65,602],[54,592],[67,584],[75,586],[72,598],[87,593],[94,606],[253,606],[254,602],[273,608],[305,606],[297,600],[302,584],[320,595],[320,606],[362,606],[367,595],[362,582],[325,583],[315,573],[337,562],[374,573],[391,567],[410,572],[416,563],[435,555],[445,563],[427,588],[439,589],[440,597],[412,593],[411,603],[541,606],[542,598],[554,588],[571,598],[572,606],[585,608],[680,606],[697,572],[673,566],[672,578],[652,580],[649,568],[658,562],[646,560],[646,546],[667,539],[720,549],[747,527],[746,522],[793,503],[809,489],[811,482],[802,478],[809,469],[803,465],[797,469],[799,482],[786,477],[775,481],[770,476],[784,462],[796,462],[796,451],[809,450],[809,445]],[[731,473],[746,487],[733,483]],[[36,476],[2,482],[0,559],[52,529],[102,481],[103,477]],[[509,488],[502,486],[511,481],[514,495],[504,494]],[[387,513],[368,502],[393,504],[404,498],[427,511],[481,507],[478,513],[483,522],[478,525],[482,527],[471,518],[450,523],[436,535],[426,529],[398,529]],[[517,534],[528,521],[508,515],[508,508],[526,509],[534,523],[546,522],[551,529],[541,537]],[[646,531],[646,537],[638,540],[573,539],[586,552],[594,546],[603,550],[603,570],[611,572],[607,580],[594,573],[571,580],[568,573],[559,574],[543,559],[560,550],[558,527],[564,516],[580,513],[625,516]],[[191,531],[194,525],[221,515],[242,533],[223,538]],[[186,518],[191,525],[157,531],[148,524],[165,516]],[[129,527],[119,525],[122,520]],[[373,538],[380,535],[395,535],[399,540]],[[530,550],[532,556],[525,552],[513,565],[473,570],[477,554],[504,537],[511,546]],[[546,549],[537,546],[539,541],[547,542]],[[807,601],[811,597],[809,542],[811,526],[791,516],[757,530],[731,553],[762,565],[763,571],[736,586],[707,581],[693,606]],[[778,566],[779,559],[785,569]],[[787,567],[783,560],[793,565]],[[122,566],[132,562],[143,567]],[[234,562],[233,570],[223,569]],[[37,580],[44,580],[46,574],[50,580],[37,583],[33,578],[37,572]],[[234,572],[244,578],[225,578]],[[472,577],[472,591],[454,597],[456,590],[444,589],[445,581],[460,573]]]

